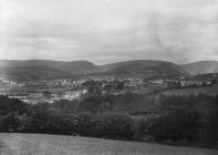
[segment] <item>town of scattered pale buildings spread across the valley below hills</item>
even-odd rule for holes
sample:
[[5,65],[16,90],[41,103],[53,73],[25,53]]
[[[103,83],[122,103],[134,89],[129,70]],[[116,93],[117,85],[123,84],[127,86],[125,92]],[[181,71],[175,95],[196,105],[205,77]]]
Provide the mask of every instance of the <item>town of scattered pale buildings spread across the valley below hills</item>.
[[19,99],[25,103],[54,103],[60,100],[80,100],[91,86],[97,86],[102,94],[134,92],[153,94],[173,89],[205,87],[217,82],[218,73],[180,76],[178,79],[144,79],[142,76],[86,75],[76,80],[29,80],[15,81],[0,78],[0,94]]

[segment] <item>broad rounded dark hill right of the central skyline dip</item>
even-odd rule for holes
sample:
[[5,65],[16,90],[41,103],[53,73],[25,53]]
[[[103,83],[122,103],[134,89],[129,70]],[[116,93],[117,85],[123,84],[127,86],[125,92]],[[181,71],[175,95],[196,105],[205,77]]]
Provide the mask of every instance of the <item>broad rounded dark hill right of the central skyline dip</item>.
[[183,68],[172,62],[155,60],[135,60],[111,63],[100,66],[102,71],[110,74],[147,74],[159,78],[177,78],[187,75]]

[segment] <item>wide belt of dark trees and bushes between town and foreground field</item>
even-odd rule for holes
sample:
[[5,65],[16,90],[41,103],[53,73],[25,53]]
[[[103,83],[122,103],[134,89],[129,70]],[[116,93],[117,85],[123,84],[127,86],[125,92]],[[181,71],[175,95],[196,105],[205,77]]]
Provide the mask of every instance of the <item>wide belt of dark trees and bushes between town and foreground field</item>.
[[0,132],[217,146],[218,96],[102,95],[25,104],[0,96]]

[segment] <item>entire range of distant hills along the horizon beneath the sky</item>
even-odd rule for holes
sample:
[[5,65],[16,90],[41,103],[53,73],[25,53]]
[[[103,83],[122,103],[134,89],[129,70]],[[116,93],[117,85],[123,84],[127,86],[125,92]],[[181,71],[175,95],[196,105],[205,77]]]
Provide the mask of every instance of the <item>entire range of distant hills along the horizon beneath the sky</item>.
[[[22,69],[23,68],[23,69]],[[9,70],[10,69],[10,70]],[[195,75],[197,73],[208,73],[218,71],[218,61],[198,61],[188,64],[175,64],[169,61],[160,60],[132,60],[108,63],[104,65],[96,65],[90,61],[79,60],[79,61],[53,61],[53,60],[0,60],[0,73],[7,70],[9,76],[10,74],[25,74],[31,73],[31,70],[42,73],[42,76],[46,79],[49,75],[49,70],[52,74],[61,78],[62,74],[64,78],[70,78],[73,75],[80,74],[90,74],[90,73],[105,73],[105,74],[147,74],[156,73],[160,78],[176,78],[183,75]],[[17,72],[21,70],[22,72]],[[33,70],[33,71],[34,71]],[[43,71],[45,70],[45,71]],[[55,73],[56,72],[56,73]],[[44,73],[44,74],[43,74]],[[35,73],[37,74],[37,73]],[[33,76],[38,75],[33,74]],[[23,75],[22,75],[23,76]]]

